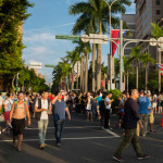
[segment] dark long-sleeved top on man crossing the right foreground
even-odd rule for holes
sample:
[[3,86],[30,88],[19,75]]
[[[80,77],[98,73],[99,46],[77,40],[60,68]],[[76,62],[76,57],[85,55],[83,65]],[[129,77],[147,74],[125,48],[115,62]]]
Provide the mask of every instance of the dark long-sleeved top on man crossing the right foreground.
[[124,105],[124,128],[135,129],[137,128],[137,122],[139,121],[138,115],[138,103],[133,98],[127,99]]

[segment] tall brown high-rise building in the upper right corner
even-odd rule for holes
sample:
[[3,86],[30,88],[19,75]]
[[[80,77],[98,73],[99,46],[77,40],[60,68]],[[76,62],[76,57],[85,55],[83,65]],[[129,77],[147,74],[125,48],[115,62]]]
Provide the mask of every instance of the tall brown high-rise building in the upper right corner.
[[[136,39],[150,39],[152,25],[163,17],[163,0],[135,0],[136,3]],[[156,47],[140,42],[142,53],[149,52],[158,62]]]

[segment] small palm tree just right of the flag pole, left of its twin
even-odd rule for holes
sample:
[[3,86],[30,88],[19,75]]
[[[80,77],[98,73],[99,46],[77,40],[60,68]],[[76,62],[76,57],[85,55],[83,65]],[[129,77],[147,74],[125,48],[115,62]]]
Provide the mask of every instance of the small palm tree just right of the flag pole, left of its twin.
[[135,62],[136,64],[136,88],[138,89],[138,79],[139,79],[139,62],[141,61],[141,48],[137,46],[131,48],[129,62]]

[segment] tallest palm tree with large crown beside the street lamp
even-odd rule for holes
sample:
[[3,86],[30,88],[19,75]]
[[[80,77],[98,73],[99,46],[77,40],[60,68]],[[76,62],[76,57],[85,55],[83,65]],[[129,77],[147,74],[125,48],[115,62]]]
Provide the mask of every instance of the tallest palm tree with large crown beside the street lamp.
[[[112,1],[111,1],[112,2]],[[113,13],[125,13],[125,5],[130,5],[130,0],[122,0],[113,4]],[[80,14],[79,18],[76,21],[73,27],[73,34],[79,34],[82,32],[88,32],[89,27],[93,29],[93,33],[104,34],[106,33],[106,25],[109,25],[109,9],[103,0],[88,0],[88,2],[78,2],[70,8],[70,14],[77,15]],[[117,17],[112,17],[112,25],[118,24]],[[90,34],[90,33],[89,33]],[[93,59],[95,59],[95,50]],[[101,83],[101,45],[98,45],[98,71],[97,71],[97,89],[100,89]],[[95,61],[92,61],[92,64]],[[92,71],[95,71],[92,68]]]

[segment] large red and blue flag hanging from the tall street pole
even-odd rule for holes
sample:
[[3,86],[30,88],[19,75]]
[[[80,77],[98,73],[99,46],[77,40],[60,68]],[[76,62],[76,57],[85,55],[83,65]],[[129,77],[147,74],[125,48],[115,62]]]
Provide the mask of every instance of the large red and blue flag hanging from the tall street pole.
[[[123,29],[123,35],[125,35],[128,32],[128,29]],[[112,38],[120,38],[120,29],[112,29]],[[120,42],[120,40],[114,40],[117,45]],[[112,42],[112,57],[114,57],[115,52],[116,52],[116,48],[117,46]]]

